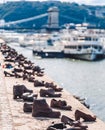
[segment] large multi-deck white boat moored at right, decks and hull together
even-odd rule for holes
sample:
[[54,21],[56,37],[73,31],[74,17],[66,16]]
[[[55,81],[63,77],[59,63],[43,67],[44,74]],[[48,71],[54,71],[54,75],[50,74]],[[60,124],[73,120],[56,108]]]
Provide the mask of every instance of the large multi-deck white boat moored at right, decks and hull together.
[[86,28],[65,33],[65,57],[89,61],[103,59],[104,49],[99,38],[99,33]]

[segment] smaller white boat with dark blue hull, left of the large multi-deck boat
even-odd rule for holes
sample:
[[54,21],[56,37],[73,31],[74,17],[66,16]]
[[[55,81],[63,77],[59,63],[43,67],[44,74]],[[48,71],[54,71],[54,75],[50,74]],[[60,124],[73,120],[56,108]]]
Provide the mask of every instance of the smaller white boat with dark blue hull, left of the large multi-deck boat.
[[36,41],[33,47],[33,54],[41,58],[63,58],[63,46],[60,42],[53,42],[52,40]]

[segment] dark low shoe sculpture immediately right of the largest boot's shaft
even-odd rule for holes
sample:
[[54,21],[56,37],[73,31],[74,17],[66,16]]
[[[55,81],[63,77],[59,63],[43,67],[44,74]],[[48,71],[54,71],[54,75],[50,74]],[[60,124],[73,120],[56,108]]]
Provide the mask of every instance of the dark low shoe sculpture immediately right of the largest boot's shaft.
[[67,106],[67,102],[66,101],[62,101],[62,100],[56,100],[56,99],[52,99],[50,106],[53,108],[59,108],[59,109],[63,109],[63,110],[71,110],[71,106]]

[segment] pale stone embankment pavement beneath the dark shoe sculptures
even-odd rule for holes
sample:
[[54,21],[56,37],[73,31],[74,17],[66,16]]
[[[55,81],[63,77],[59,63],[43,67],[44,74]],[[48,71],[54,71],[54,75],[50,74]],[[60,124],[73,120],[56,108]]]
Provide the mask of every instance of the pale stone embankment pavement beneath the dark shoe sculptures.
[[[41,97],[40,89],[44,89],[45,87],[43,86],[35,87],[33,82],[23,80],[23,78],[18,78],[15,76],[5,76],[3,67],[4,64],[7,63],[7,61],[4,61],[2,53],[0,53],[0,62],[0,130],[47,130],[48,126],[50,126],[52,122],[60,123],[61,117],[33,117],[32,113],[25,113],[23,111],[24,101],[22,99],[13,99],[13,86],[16,84],[25,85],[28,89],[33,90],[33,93],[38,95],[37,99],[45,99],[49,106],[51,100],[54,99],[54,97]],[[45,74],[45,72],[43,76],[35,75],[35,80],[54,82]],[[57,83],[55,82],[54,84],[57,85]],[[57,87],[59,88],[58,85]],[[66,115],[67,117],[75,120],[75,111],[77,109],[84,113],[88,113],[89,115],[94,115],[88,108],[81,104],[80,101],[75,99],[73,95],[68,93],[66,90],[63,89],[60,93],[61,97],[55,99],[65,100],[67,104],[72,107],[71,110],[52,108],[52,110],[54,111],[59,111],[61,113],[61,116]],[[87,130],[105,130],[105,123],[98,118],[96,118],[96,120],[93,122],[83,122],[83,120],[80,121],[82,122],[82,124],[88,126]],[[70,125],[66,126],[67,128],[72,128],[72,126]]]

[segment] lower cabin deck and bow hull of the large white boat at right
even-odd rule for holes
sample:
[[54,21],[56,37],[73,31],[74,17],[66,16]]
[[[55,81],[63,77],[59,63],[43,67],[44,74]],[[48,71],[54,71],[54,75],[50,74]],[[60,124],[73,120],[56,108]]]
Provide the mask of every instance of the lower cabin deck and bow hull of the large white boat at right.
[[65,57],[82,60],[103,59],[103,47],[99,44],[69,44],[64,48]]

